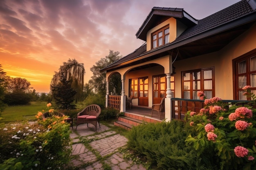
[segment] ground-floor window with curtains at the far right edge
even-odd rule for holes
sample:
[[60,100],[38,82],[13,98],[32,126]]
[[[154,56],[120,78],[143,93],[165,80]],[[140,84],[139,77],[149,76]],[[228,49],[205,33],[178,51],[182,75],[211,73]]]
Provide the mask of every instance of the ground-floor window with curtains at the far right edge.
[[256,94],[256,51],[247,53],[233,60],[233,70],[235,72],[235,99],[246,100],[243,95],[244,86],[252,86],[251,92]]

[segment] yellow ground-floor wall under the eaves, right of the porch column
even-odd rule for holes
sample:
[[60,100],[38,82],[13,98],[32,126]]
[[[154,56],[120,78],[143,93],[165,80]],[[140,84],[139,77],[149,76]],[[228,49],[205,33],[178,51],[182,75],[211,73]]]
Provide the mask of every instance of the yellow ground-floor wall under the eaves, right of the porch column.
[[[232,59],[256,49],[256,24],[218,52],[175,61],[175,97],[181,98],[181,72],[198,68],[215,68],[215,96],[233,98]],[[204,62],[202,62],[204,61]]]

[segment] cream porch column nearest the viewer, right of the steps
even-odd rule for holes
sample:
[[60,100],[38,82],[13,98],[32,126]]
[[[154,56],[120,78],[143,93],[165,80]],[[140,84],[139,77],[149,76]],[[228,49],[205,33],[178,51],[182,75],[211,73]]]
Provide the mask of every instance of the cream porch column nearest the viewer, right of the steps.
[[166,88],[166,99],[165,104],[165,119],[166,121],[171,121],[171,73],[166,74],[167,88]]

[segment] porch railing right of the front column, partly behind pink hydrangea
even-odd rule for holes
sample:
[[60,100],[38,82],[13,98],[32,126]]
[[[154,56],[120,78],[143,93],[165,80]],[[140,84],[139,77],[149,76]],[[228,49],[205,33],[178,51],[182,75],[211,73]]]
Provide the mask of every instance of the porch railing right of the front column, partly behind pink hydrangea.
[[[236,104],[237,106],[247,104],[250,101],[247,100],[222,100],[222,102]],[[201,108],[203,108],[203,100],[192,100],[192,99],[171,99],[171,117],[172,119],[179,119],[186,121],[186,113],[191,110],[198,113]]]

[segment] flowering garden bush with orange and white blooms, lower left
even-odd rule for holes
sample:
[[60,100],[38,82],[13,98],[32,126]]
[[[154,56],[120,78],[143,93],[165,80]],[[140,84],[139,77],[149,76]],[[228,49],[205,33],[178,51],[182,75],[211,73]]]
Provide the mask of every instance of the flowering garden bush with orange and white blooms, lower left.
[[[50,113],[54,109],[47,104]],[[57,170],[70,161],[70,124],[66,117],[52,116],[34,124],[9,124],[0,127],[1,170]],[[67,167],[66,167],[67,168]]]

